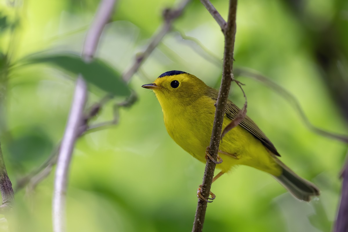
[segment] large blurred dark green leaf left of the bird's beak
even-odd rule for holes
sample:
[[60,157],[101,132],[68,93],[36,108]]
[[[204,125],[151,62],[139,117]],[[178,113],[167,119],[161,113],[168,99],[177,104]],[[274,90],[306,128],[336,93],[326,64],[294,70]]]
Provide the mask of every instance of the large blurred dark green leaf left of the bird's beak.
[[50,63],[74,74],[81,73],[88,83],[116,96],[129,96],[130,90],[121,74],[101,59],[86,63],[75,54],[32,56],[29,63]]

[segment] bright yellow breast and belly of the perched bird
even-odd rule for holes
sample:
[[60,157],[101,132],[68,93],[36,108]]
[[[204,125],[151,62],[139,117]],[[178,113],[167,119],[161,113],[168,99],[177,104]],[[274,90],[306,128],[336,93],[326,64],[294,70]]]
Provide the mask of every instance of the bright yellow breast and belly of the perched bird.
[[[159,96],[158,96],[159,97]],[[161,99],[159,97],[161,103]],[[185,151],[196,159],[205,161],[206,147],[210,143],[215,101],[202,95],[190,104],[180,104],[173,101],[166,105],[161,103],[164,123],[168,134]],[[223,128],[231,122],[225,116]],[[219,149],[237,155],[235,159],[219,153],[223,162],[216,167],[227,172],[235,165],[248,165],[266,171],[272,175],[280,175],[280,168],[271,158],[263,144],[241,126],[229,131],[220,143]]]

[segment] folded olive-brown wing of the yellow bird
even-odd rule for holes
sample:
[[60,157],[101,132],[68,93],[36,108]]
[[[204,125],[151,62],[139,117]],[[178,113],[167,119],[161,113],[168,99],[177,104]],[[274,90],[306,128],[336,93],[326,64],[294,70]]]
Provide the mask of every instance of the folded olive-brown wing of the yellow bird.
[[[213,98],[215,101],[217,99],[217,90],[209,89],[208,95]],[[227,100],[225,114],[228,118],[234,119],[236,114],[240,111],[238,106],[233,104],[230,100]],[[280,156],[277,149],[274,147],[273,143],[267,138],[267,136],[262,132],[262,130],[256,125],[256,123],[245,115],[245,118],[239,123],[244,129],[249,131],[253,136],[258,138],[261,143],[268,148],[273,154]]]

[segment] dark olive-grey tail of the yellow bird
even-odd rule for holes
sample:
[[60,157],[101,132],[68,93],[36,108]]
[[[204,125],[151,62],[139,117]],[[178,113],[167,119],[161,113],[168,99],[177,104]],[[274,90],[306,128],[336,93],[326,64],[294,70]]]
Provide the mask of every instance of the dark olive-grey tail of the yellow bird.
[[280,176],[274,176],[277,181],[282,184],[294,197],[302,201],[310,201],[312,196],[319,196],[319,189],[309,181],[296,175],[283,162],[278,160],[276,162],[282,167],[283,173]]

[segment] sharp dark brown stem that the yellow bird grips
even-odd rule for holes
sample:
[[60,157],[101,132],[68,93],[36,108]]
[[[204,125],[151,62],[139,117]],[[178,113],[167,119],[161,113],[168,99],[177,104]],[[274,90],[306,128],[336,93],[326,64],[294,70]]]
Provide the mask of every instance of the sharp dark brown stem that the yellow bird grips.
[[[209,153],[214,160],[217,159],[217,152],[219,150],[222,123],[225,114],[226,103],[228,99],[228,93],[231,86],[232,70],[233,70],[233,53],[236,34],[236,10],[237,0],[229,1],[229,12],[226,30],[224,32],[225,47],[223,55],[223,70],[219,95],[216,100],[215,118],[212,130],[212,137],[209,145]],[[219,24],[220,25],[220,24]],[[201,194],[207,198],[210,193],[214,170],[216,164],[211,161],[207,161],[202,182]],[[205,212],[207,209],[207,202],[198,200],[195,220],[193,222],[192,232],[200,232],[203,230],[203,223],[205,218]]]

